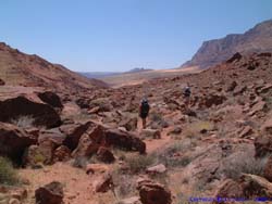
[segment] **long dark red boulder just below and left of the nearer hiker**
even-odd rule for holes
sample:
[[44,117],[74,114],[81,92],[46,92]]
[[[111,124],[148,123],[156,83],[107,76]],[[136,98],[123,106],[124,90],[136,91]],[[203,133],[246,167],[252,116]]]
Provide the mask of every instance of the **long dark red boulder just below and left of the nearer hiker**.
[[108,129],[104,133],[106,144],[128,151],[138,151],[141,154],[146,153],[146,143],[132,132]]

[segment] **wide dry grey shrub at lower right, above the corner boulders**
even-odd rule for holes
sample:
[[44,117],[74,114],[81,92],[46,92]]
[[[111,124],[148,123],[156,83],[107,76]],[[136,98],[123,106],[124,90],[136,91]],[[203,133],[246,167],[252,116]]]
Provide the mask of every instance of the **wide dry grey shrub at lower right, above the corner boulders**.
[[232,179],[238,179],[242,174],[263,176],[263,169],[268,158],[269,156],[255,158],[254,156],[249,156],[246,152],[243,152],[239,153],[235,160],[226,163],[223,173],[227,178]]

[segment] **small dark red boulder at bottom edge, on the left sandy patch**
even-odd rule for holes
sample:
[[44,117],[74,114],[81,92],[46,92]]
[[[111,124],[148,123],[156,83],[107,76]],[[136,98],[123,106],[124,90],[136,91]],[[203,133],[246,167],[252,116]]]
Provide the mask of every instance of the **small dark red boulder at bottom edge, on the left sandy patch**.
[[35,191],[38,204],[63,204],[63,187],[58,181],[50,182]]

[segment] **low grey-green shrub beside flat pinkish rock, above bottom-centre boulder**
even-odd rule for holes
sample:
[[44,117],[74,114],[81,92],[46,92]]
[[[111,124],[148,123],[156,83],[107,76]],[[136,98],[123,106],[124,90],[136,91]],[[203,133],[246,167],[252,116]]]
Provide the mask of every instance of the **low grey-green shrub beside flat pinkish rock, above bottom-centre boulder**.
[[141,173],[146,170],[147,167],[156,163],[156,155],[131,155],[125,158],[128,169],[133,174]]

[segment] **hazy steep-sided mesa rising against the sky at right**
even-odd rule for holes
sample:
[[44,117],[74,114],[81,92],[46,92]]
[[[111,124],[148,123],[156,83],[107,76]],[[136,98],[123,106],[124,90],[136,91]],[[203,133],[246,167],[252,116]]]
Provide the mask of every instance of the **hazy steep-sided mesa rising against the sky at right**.
[[182,67],[207,68],[231,58],[234,53],[271,52],[272,20],[262,22],[245,34],[232,34],[225,38],[205,41],[193,59]]

